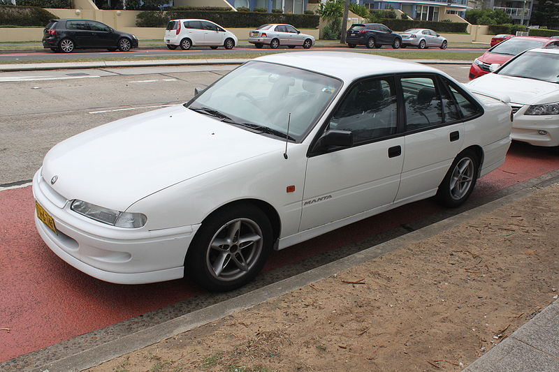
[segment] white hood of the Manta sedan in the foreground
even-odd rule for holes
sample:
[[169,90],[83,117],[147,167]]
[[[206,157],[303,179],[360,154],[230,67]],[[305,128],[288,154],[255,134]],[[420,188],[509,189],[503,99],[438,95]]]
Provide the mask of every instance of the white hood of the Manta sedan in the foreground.
[[245,131],[182,105],[114,121],[53,147],[43,178],[66,200],[125,211],[163,188],[270,151],[275,138]]

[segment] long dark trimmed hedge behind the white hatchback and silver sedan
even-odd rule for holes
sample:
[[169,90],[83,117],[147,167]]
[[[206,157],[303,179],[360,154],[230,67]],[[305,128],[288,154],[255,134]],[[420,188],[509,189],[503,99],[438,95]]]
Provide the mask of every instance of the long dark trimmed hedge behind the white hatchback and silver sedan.
[[319,26],[318,15],[257,13],[257,12],[211,12],[205,10],[171,10],[168,12],[142,12],[136,17],[138,27],[165,27],[169,20],[181,18],[199,18],[210,20],[222,27],[251,28],[266,23],[293,24],[300,29],[316,29]]

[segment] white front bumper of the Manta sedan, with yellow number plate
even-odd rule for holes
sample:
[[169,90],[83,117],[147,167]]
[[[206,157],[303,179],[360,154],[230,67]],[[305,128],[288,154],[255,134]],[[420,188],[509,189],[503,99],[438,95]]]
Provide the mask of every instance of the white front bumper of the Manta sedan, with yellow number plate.
[[35,225],[48,247],[69,265],[102,281],[140,284],[184,276],[184,257],[200,225],[164,230],[115,228],[70,209],[70,200],[41,177],[33,179],[35,200],[52,216],[55,234],[38,219]]

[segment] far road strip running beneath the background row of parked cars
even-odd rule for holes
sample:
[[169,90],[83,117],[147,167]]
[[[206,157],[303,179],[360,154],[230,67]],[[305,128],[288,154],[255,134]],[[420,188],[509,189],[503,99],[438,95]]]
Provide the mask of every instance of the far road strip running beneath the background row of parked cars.
[[[165,56],[165,57],[188,57],[188,56],[202,56],[205,55],[207,58],[212,58],[212,56],[216,54],[246,54],[246,53],[277,53],[277,52],[300,52],[304,51],[303,48],[296,47],[294,49],[289,49],[287,47],[279,47],[278,49],[270,49],[269,47],[263,47],[262,49],[257,49],[256,47],[235,47],[232,50],[224,50],[224,48],[219,48],[217,50],[209,49],[208,47],[193,47],[191,50],[168,50],[167,48],[164,49],[133,49],[131,52],[108,52],[107,50],[76,50],[72,53],[55,53],[51,52],[50,50],[37,50],[37,51],[26,51],[26,52],[17,52],[17,51],[3,51],[0,53],[0,62],[1,61],[13,61],[13,62],[20,62],[20,61],[44,61],[44,60],[67,60],[67,59],[92,59],[92,58],[116,58],[119,57],[120,59],[126,59],[126,57],[155,57],[155,56]],[[354,49],[349,49],[348,47],[335,47],[335,46],[328,46],[328,47],[312,47],[310,50],[334,50],[339,52],[349,52],[355,50],[368,50],[363,46],[356,47]],[[479,52],[479,55],[484,54],[486,48],[449,48],[447,50],[441,50],[440,48],[429,48],[421,50],[421,52],[443,52],[443,53],[450,53],[450,52],[458,52],[458,53],[469,53],[469,52]],[[419,51],[417,48],[414,47],[407,47],[405,49],[392,49],[392,47],[384,46],[379,49],[372,49],[369,51],[382,51],[382,52],[394,52],[394,51]]]

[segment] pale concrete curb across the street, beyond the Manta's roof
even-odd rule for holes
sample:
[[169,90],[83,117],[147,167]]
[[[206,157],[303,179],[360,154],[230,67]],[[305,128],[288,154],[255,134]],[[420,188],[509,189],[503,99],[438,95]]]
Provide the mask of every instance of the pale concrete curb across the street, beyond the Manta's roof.
[[[202,65],[240,65],[250,59],[161,59],[148,61],[96,61],[96,62],[54,62],[41,64],[0,64],[0,71],[38,71],[76,68],[111,67],[150,67],[150,66],[202,66]],[[419,64],[470,65],[472,61],[452,61],[437,59],[407,59]]]

